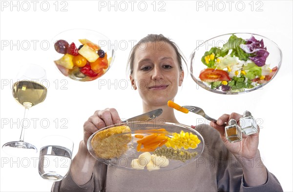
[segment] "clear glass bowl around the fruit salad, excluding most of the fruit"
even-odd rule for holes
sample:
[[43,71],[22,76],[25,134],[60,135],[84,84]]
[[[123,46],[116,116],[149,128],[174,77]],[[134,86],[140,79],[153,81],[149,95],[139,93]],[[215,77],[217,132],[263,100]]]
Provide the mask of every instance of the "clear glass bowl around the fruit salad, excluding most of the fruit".
[[[100,70],[99,67],[97,67],[95,70],[97,72],[97,75],[86,75],[81,72],[82,67],[78,67],[76,65],[73,66],[72,69],[69,69],[70,67],[64,67],[64,65],[57,64],[56,61],[60,60],[64,54],[58,53],[55,50],[54,44],[59,40],[65,40],[69,45],[71,43],[75,43],[75,46],[79,48],[82,43],[79,41],[79,39],[87,39],[92,43],[95,43],[101,47],[101,49],[107,54],[107,61],[108,66],[103,67],[103,69]],[[70,29],[63,31],[56,35],[52,41],[51,41],[51,53],[53,55],[52,57],[52,64],[55,64],[57,69],[66,77],[69,77],[76,81],[93,81],[95,79],[100,78],[103,76],[111,67],[111,65],[114,62],[115,59],[115,51],[113,49],[113,46],[111,46],[111,41],[109,38],[107,38],[105,35],[98,33],[96,31],[88,30],[88,29]],[[60,63],[60,62],[59,62]],[[94,63],[94,62],[92,62]],[[71,66],[71,65],[70,65]],[[97,65],[96,65],[97,66]],[[98,72],[99,71],[99,72]],[[95,76],[96,75],[96,76]]]

